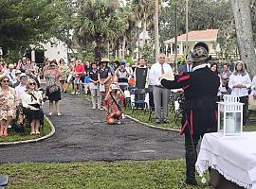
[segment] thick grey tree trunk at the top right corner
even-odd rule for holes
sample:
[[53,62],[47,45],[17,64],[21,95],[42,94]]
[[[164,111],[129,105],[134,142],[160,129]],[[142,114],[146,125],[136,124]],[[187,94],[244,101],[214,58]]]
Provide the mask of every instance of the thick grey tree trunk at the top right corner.
[[247,64],[250,76],[256,75],[256,56],[252,38],[250,0],[231,0],[235,19],[237,42],[241,60]]

